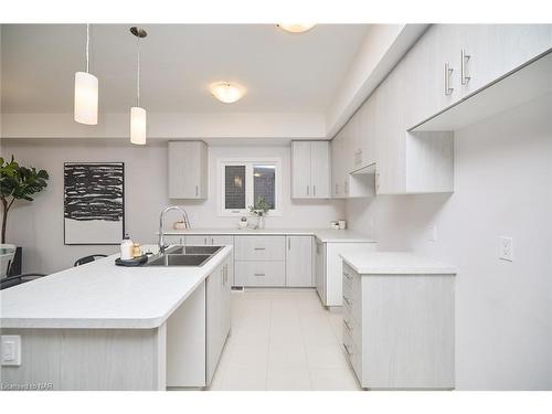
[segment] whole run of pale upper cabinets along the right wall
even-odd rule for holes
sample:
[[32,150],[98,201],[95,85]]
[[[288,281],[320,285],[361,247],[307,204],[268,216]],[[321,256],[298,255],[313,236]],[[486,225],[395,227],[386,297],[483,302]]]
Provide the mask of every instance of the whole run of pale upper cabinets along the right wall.
[[[333,197],[348,197],[348,189],[340,188],[343,177],[353,177],[350,172],[374,161],[378,194],[454,191],[456,128],[438,128],[445,123],[433,119],[459,105],[471,105],[489,85],[512,77],[505,76],[551,49],[550,24],[429,26],[333,138]],[[527,94],[506,94],[502,100],[510,95]],[[486,110],[489,105],[496,105],[497,112],[503,107],[490,98],[481,105]],[[477,115],[479,109],[474,105],[468,113]],[[428,123],[433,126],[424,128]],[[340,168],[341,163],[346,167]]]

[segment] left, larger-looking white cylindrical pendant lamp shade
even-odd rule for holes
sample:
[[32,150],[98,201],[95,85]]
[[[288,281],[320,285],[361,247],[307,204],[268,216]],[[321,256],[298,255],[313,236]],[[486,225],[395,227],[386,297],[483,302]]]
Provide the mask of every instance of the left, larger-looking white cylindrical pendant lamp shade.
[[98,78],[87,72],[75,73],[75,121],[98,124]]

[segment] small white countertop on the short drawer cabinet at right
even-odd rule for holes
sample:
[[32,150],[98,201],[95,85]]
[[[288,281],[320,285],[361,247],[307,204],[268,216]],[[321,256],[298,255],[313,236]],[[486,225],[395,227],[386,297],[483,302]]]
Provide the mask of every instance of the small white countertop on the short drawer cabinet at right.
[[408,252],[343,253],[343,262],[361,275],[448,275],[454,266]]

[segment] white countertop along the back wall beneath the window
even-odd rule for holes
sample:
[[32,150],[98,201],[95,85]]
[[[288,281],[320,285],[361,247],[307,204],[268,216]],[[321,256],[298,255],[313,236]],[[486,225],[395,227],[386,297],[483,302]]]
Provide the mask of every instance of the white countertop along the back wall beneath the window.
[[164,235],[231,234],[231,235],[311,235],[322,243],[376,243],[365,234],[352,230],[332,229],[188,229],[166,230]]

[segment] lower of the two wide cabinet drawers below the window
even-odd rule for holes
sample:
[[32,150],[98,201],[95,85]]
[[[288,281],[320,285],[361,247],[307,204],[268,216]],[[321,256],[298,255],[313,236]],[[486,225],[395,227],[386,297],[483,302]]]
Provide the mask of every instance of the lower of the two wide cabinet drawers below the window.
[[282,262],[235,262],[236,286],[284,286],[286,263]]

